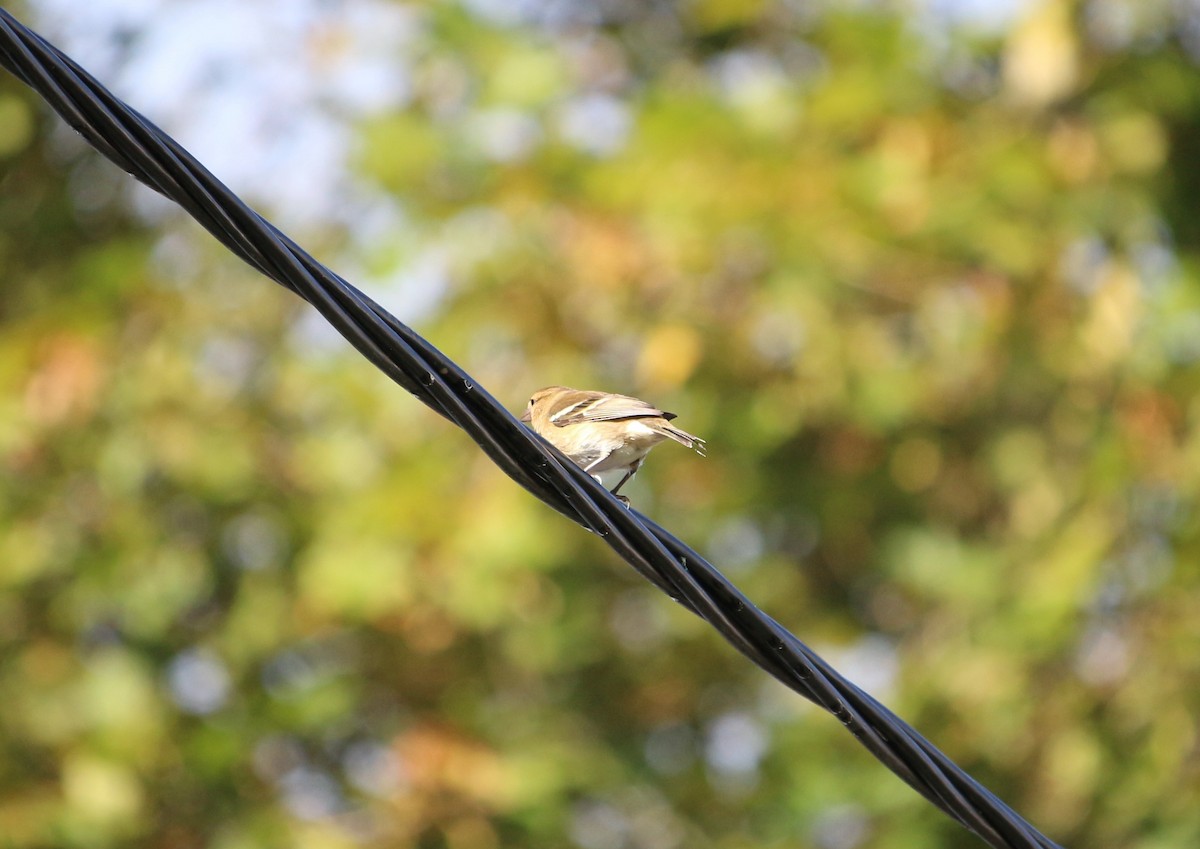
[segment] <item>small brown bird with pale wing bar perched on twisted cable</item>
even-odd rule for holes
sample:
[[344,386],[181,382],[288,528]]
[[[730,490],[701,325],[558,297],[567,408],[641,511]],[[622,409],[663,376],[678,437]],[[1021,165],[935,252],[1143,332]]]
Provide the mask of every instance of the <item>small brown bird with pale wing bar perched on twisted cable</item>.
[[625,472],[612,488],[617,495],[664,439],[704,456],[704,440],[671,424],[674,417],[628,395],[547,386],[533,393],[521,421],[601,483],[604,472]]

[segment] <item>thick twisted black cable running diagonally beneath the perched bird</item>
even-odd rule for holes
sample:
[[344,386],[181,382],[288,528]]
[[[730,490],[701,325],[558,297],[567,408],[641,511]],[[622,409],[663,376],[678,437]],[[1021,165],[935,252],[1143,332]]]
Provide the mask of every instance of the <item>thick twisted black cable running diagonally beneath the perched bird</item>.
[[838,717],[868,751],[930,802],[994,847],[1057,847],[756,608],[712,564],[617,501],[548,442],[522,427],[442,351],[310,257],[179,143],[4,8],[0,65],[46,98],[106,157],[176,201],[226,247],[308,301],[388,377],[466,430],[506,475],[602,537],[643,577],[702,616],[738,651]]

